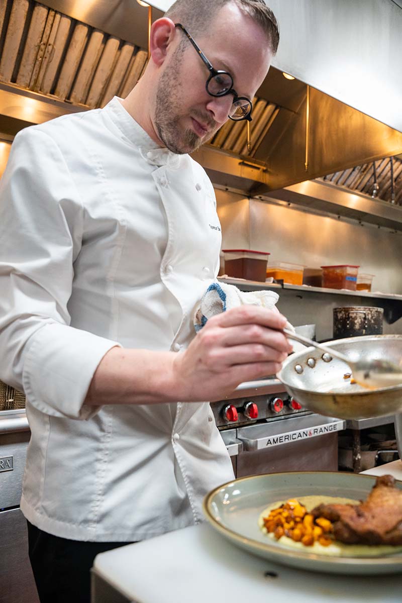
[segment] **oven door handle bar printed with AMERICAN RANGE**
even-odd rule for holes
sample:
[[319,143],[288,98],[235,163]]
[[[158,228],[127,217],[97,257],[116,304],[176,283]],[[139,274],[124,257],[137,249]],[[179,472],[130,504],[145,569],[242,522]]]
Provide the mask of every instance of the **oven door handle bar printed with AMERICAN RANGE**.
[[294,431],[287,431],[281,434],[272,434],[269,429],[271,426],[267,425],[267,433],[263,437],[252,438],[245,437],[244,435],[237,434],[239,440],[243,442],[244,452],[253,452],[253,450],[262,450],[272,446],[280,446],[283,444],[291,444],[292,442],[298,442],[300,440],[309,440],[315,438],[318,435],[333,434],[337,431],[345,429],[345,421],[337,418],[332,420],[325,420],[322,417],[321,424],[311,425],[304,427],[303,429],[295,429]]

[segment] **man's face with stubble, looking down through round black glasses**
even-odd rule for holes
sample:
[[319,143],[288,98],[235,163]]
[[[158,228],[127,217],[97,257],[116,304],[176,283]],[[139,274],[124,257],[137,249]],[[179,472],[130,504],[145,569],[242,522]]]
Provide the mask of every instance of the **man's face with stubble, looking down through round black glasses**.
[[[235,4],[227,4],[217,13],[209,35],[195,37],[195,42],[215,69],[231,74],[237,94],[253,101],[272,58],[259,25]],[[210,96],[209,75],[190,40],[177,28],[159,77],[154,116],[160,140],[174,153],[192,153],[228,119],[233,95]]]

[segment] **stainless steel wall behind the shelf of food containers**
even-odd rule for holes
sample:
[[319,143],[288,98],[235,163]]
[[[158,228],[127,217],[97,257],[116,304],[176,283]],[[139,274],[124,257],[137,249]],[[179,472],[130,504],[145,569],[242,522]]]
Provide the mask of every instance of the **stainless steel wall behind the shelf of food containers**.
[[[216,190],[222,248],[269,251],[270,260],[312,268],[331,264],[360,265],[374,274],[372,291],[402,294],[402,233],[315,215],[294,207]],[[370,305],[372,298],[321,293],[281,292],[278,308],[294,324],[317,324],[317,338],[332,336],[332,309]],[[401,302],[402,306],[402,302]],[[402,333],[402,318],[384,323],[384,333]]]

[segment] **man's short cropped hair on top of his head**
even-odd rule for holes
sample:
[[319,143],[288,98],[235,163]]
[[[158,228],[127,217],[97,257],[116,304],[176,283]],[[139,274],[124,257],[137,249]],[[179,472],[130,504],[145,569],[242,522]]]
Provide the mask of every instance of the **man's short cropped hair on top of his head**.
[[176,0],[166,11],[165,16],[178,21],[189,30],[192,36],[206,31],[221,8],[233,2],[240,10],[248,14],[260,25],[269,40],[272,54],[275,54],[279,43],[279,27],[271,8],[264,0]]

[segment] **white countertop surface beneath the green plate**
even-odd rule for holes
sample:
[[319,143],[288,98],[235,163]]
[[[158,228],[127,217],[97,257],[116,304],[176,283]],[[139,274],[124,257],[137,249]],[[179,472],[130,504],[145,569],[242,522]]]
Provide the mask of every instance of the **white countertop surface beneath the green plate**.
[[[364,473],[402,479],[402,461]],[[402,576],[304,572],[238,549],[207,523],[102,553],[93,578],[93,603],[228,603],[251,596],[253,603],[400,603],[402,597]],[[108,595],[96,588],[97,578],[112,587]]]

